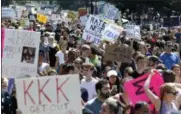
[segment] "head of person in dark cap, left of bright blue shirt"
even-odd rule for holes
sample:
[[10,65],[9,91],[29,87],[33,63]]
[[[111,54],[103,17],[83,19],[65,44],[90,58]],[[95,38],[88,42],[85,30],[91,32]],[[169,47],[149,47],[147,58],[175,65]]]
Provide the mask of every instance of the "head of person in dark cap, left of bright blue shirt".
[[162,61],[155,55],[148,57],[148,67],[156,68]]

